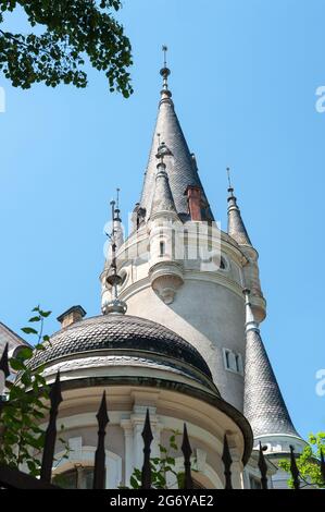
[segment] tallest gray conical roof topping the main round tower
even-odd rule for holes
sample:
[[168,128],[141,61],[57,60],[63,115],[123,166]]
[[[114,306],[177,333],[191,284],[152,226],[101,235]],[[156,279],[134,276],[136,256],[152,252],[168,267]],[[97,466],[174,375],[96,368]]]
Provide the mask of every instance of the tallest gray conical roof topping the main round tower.
[[167,77],[171,71],[166,66],[166,61],[164,61],[164,66],[160,73],[163,76],[163,86],[139,206],[140,208],[146,209],[146,218],[148,219],[151,211],[157,172],[157,135],[161,134],[161,139],[165,142],[173,154],[167,166],[167,172],[170,187],[177,214],[183,218],[188,217],[188,204],[185,191],[188,186],[192,185],[200,187],[202,191],[202,220],[213,220],[213,216],[197,171],[196,162],[189,151],[174,109],[172,93],[167,84]]

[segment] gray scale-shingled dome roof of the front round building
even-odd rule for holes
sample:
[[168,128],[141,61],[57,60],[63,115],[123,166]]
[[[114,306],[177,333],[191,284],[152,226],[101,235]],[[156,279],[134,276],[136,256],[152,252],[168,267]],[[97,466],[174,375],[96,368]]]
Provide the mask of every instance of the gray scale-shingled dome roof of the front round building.
[[200,353],[166,327],[154,321],[129,315],[101,315],[76,321],[58,331],[43,352],[30,361],[32,367],[49,363],[71,354],[92,351],[149,352],[165,359],[173,358],[188,364],[212,379],[211,371]]

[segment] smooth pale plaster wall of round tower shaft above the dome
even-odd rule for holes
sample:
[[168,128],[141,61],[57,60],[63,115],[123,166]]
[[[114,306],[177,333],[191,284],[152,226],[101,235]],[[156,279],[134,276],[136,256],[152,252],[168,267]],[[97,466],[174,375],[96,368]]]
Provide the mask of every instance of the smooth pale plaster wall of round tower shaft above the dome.
[[223,348],[245,358],[242,298],[215,282],[185,278],[172,304],[148,284],[127,298],[129,315],[162,324],[189,341],[207,361],[222,397],[242,411],[243,378],[225,369]]

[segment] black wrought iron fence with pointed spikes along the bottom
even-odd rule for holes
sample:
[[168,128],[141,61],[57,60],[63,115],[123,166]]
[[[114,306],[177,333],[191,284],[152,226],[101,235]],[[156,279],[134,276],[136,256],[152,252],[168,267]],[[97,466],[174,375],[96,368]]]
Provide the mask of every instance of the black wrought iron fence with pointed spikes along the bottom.
[[[3,373],[4,377],[9,376],[9,364],[8,364],[8,348],[5,348],[2,357],[0,359],[0,371]],[[45,434],[45,444],[40,465],[40,477],[36,478],[30,476],[17,468],[10,467],[7,464],[0,463],[0,487],[1,488],[14,488],[14,489],[60,489],[59,486],[52,484],[52,466],[54,461],[54,449],[57,441],[57,416],[59,412],[60,403],[62,402],[61,394],[61,382],[60,374],[57,374],[54,383],[50,390],[50,409],[49,409],[49,424]],[[0,416],[2,407],[5,406],[5,402],[0,401]],[[107,397],[105,391],[103,392],[101,403],[97,413],[98,422],[98,440],[97,449],[95,453],[95,465],[93,465],[93,489],[105,488],[105,448],[104,437],[105,429],[109,424],[109,415],[107,409]],[[153,441],[153,435],[150,424],[150,414],[147,410],[146,420],[142,430],[143,439],[143,464],[141,471],[141,489],[150,489],[152,487],[152,466],[151,466],[151,442]],[[1,440],[0,440],[1,442]],[[193,479],[191,472],[191,446],[188,438],[187,427],[184,424],[183,430],[183,442],[182,452],[184,458],[184,478],[183,488],[193,489]],[[227,436],[224,437],[222,462],[224,465],[224,477],[225,477],[225,489],[233,489],[232,484],[232,464],[233,459],[228,446]],[[261,474],[261,488],[267,489],[267,463],[264,455],[264,449],[260,442],[259,447],[259,471]],[[290,472],[292,476],[295,489],[300,488],[300,474],[297,467],[296,454],[293,448],[290,447]],[[321,455],[321,472],[325,483],[325,461],[324,455]]]

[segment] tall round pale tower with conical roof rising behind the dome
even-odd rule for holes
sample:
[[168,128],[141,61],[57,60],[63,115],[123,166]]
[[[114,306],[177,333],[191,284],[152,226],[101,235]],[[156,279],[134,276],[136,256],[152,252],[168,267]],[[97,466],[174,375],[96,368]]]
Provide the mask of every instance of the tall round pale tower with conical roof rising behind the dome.
[[[123,278],[120,296],[128,313],[146,316],[189,341],[209,364],[226,401],[243,410],[245,301],[261,321],[265,301],[258,253],[243,227],[229,186],[228,233],[214,221],[186,143],[168,87],[163,86],[142,191],[133,231],[116,254]],[[108,269],[101,275],[102,302],[111,300]]]

